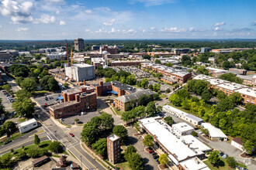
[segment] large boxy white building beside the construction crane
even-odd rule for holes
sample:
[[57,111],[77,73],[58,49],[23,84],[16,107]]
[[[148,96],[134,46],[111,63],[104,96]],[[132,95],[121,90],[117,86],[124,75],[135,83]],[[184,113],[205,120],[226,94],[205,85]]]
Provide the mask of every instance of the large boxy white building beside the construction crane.
[[[92,80],[95,78],[95,68],[89,64],[73,64],[73,68],[65,64],[65,73],[68,78],[76,81]],[[72,75],[73,74],[73,75]]]

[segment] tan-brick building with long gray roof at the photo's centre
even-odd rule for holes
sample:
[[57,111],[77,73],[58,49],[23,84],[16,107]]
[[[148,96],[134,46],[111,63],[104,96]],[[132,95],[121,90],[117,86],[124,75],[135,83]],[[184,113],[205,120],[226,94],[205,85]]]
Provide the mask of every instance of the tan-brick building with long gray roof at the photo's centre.
[[154,93],[155,93],[154,91],[151,91],[149,89],[145,89],[145,90],[137,90],[134,93],[129,93],[129,94],[123,95],[121,97],[116,97],[116,99],[115,99],[115,107],[118,110],[126,111],[126,106],[128,104],[130,104],[131,100],[136,100],[136,104],[135,104],[134,107],[137,107],[138,106],[137,101],[139,100],[139,98],[142,95],[145,94],[147,96],[153,97]]

